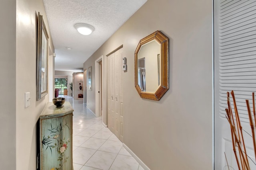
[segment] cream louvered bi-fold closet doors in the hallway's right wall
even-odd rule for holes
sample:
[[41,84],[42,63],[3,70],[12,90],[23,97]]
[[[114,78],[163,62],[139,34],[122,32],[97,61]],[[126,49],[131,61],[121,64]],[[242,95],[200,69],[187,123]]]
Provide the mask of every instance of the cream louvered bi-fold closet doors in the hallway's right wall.
[[108,128],[123,141],[124,71],[123,49],[108,56]]

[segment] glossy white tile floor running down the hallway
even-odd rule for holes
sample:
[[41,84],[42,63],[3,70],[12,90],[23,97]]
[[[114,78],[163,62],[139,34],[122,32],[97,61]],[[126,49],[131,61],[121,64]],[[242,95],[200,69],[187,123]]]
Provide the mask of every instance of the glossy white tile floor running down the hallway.
[[64,97],[74,108],[74,170],[144,170],[122,142],[102,125],[102,117],[94,117],[83,100]]

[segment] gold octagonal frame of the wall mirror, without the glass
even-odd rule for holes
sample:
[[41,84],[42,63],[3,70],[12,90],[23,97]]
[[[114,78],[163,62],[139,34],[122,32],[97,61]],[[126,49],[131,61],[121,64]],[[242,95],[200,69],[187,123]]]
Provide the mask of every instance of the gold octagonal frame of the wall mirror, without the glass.
[[[157,90],[153,92],[143,92],[138,85],[138,52],[140,51],[140,47],[142,45],[156,40],[161,45],[161,79],[160,79],[160,86]],[[166,93],[169,89],[169,39],[160,31],[156,31],[147,37],[140,40],[135,53],[134,53],[134,60],[135,60],[135,88],[138,91],[138,94],[141,98],[153,99],[153,100],[160,100],[162,96]]]

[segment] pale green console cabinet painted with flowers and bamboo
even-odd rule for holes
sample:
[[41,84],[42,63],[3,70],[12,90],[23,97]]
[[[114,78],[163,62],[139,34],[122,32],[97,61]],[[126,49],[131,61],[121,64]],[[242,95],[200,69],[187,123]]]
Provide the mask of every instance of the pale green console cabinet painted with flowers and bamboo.
[[72,170],[72,117],[69,102],[48,102],[38,120],[38,170]]

